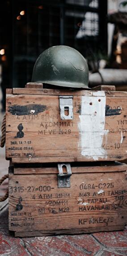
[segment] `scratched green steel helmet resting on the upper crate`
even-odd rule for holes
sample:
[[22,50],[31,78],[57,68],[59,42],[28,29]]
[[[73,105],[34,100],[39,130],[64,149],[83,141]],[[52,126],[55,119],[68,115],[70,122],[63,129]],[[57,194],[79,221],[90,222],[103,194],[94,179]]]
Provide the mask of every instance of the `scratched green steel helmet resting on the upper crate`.
[[52,46],[42,52],[36,60],[32,82],[88,88],[88,65],[76,49],[65,45]]

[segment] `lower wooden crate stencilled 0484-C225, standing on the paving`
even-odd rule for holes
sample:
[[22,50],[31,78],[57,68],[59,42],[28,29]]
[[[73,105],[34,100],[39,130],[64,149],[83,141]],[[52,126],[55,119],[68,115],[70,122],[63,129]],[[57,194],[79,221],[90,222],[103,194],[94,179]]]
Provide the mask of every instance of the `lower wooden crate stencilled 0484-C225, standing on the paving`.
[[124,229],[127,164],[73,163],[71,170],[70,187],[65,180],[58,187],[57,165],[9,168],[9,230],[15,236]]

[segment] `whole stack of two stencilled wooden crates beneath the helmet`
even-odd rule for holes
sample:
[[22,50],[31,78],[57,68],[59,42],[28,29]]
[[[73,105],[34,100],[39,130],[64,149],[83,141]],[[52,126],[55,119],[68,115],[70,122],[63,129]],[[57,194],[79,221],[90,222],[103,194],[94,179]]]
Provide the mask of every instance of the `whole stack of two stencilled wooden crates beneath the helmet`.
[[7,90],[9,230],[15,236],[124,229],[127,92]]

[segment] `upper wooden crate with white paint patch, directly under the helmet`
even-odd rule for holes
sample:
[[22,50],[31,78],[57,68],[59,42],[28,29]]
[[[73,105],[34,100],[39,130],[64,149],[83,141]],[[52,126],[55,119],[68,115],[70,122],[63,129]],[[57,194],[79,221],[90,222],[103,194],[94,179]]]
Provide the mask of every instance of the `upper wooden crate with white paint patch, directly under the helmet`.
[[127,158],[127,92],[106,86],[91,91],[35,85],[7,90],[6,159],[48,163]]

